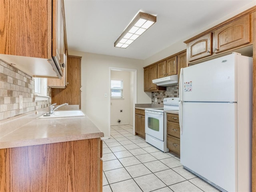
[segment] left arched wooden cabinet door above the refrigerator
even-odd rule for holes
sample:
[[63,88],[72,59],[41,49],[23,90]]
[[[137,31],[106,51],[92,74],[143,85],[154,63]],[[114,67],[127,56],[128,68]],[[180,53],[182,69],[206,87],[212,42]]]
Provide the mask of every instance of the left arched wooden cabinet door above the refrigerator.
[[212,54],[212,33],[206,34],[187,44],[188,61],[204,58]]

